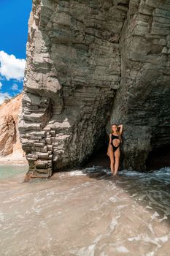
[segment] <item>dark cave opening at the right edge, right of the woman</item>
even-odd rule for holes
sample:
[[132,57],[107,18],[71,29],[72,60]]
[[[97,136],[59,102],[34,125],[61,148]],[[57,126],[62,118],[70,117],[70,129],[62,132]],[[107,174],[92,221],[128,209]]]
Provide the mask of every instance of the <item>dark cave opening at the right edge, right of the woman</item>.
[[158,170],[170,167],[170,145],[153,148],[146,160],[146,170]]

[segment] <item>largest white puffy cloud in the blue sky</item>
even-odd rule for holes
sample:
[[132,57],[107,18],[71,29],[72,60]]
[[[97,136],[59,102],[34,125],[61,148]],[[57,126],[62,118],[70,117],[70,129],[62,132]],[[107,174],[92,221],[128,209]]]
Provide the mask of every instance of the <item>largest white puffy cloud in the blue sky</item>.
[[23,80],[26,66],[25,59],[17,59],[13,54],[9,55],[4,50],[0,50],[0,65],[0,75],[4,76],[7,80]]

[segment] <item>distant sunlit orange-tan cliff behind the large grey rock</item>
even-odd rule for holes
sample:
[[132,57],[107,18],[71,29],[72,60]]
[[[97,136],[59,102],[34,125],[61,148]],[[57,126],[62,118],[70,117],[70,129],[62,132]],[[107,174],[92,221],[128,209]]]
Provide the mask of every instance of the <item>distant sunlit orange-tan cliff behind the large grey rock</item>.
[[5,159],[23,159],[23,149],[21,147],[18,132],[18,116],[21,110],[22,94],[14,99],[5,101],[0,106],[0,162]]

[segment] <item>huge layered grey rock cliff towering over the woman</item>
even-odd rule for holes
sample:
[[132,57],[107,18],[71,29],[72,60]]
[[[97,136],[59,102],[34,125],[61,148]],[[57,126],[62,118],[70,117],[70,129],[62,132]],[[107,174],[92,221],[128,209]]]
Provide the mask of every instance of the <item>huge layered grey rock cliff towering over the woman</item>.
[[112,122],[124,167],[169,143],[169,27],[168,0],[33,1],[19,126],[32,177],[85,162]]

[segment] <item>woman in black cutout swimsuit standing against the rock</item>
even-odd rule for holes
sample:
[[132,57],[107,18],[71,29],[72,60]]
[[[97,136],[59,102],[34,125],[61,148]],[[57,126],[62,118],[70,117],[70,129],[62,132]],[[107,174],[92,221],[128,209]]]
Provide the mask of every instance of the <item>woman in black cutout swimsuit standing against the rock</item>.
[[109,146],[107,148],[107,155],[110,158],[110,169],[112,175],[114,176],[117,176],[117,170],[119,168],[120,143],[122,142],[122,132],[123,124],[120,124],[118,126],[117,124],[112,124],[112,133],[109,134]]

